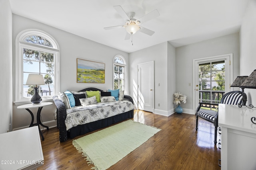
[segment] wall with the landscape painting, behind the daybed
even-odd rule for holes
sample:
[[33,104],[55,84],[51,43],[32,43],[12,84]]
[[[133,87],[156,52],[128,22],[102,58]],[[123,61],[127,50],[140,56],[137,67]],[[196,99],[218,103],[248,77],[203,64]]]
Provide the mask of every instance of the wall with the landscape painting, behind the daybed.
[[[13,20],[13,72],[15,72],[15,39],[18,33],[26,29],[40,29],[54,37],[60,47],[60,92],[66,90],[78,91],[87,87],[96,87],[102,90],[112,89],[113,80],[113,59],[116,55],[122,55],[129,66],[128,53],[90,41],[77,35],[56,29],[49,25],[39,23],[18,15],[12,15]],[[105,63],[105,83],[77,83],[76,82],[76,59],[86,59]],[[129,73],[129,70],[127,71]],[[128,75],[129,76],[129,75]],[[15,87],[15,75],[13,78],[13,89]],[[129,90],[129,89],[128,89]],[[13,94],[15,99],[15,91]],[[28,111],[16,109],[13,106],[13,128],[26,127],[30,124],[31,116]],[[46,106],[42,109],[42,120],[56,125],[54,122],[54,111],[56,107]],[[33,113],[36,109],[33,110]],[[50,125],[51,126],[51,125]]]

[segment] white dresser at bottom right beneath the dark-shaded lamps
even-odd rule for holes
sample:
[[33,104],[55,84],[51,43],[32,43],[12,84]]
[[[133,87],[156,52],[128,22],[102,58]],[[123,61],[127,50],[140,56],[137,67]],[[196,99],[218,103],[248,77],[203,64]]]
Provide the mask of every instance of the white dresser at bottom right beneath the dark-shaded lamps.
[[221,169],[256,170],[256,108],[219,104]]

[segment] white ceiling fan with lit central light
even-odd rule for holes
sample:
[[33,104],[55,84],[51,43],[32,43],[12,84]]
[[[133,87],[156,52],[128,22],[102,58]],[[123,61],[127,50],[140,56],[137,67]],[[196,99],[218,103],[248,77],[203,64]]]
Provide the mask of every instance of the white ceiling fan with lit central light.
[[149,21],[153,18],[156,18],[160,16],[158,10],[153,10],[152,12],[142,16],[139,19],[135,19],[135,12],[130,12],[128,15],[126,12],[124,12],[123,8],[121,6],[114,6],[115,10],[118,12],[118,14],[125,20],[125,25],[117,25],[117,26],[112,26],[112,27],[104,27],[104,29],[109,30],[109,29],[116,29],[116,28],[121,28],[124,27],[127,31],[125,39],[130,39],[133,34],[135,34],[137,31],[141,31],[142,33],[145,33],[147,35],[153,35],[155,32],[144,28],[142,26],[139,26],[141,23],[144,23],[146,21]]

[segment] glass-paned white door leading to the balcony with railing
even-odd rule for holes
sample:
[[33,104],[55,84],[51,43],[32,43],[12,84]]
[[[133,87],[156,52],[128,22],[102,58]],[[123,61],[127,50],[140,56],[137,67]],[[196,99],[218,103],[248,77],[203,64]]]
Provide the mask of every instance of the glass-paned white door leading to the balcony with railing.
[[[233,82],[233,55],[220,55],[203,59],[194,59],[194,110],[199,102],[220,103],[226,92],[230,92]],[[215,107],[205,105],[205,109]]]

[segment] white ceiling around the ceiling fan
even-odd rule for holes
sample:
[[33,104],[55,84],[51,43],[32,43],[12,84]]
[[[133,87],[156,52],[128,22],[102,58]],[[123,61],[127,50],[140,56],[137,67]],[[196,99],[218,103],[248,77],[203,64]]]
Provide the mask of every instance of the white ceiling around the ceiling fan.
[[[13,14],[51,25],[86,39],[131,53],[169,41],[174,47],[220,37],[240,30],[249,0],[10,0]],[[141,26],[155,31],[149,36],[140,31],[124,40],[125,21],[113,6],[120,5],[138,19],[157,9],[160,16]]]

